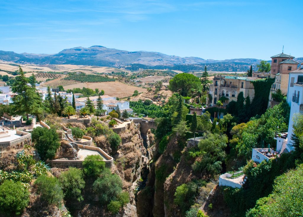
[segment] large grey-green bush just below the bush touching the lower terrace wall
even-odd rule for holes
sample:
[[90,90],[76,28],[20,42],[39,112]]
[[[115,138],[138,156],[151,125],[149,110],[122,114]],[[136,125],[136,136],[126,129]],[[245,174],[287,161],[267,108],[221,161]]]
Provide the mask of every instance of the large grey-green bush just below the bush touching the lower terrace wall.
[[92,188],[98,196],[99,202],[101,204],[107,204],[111,200],[117,200],[118,195],[122,192],[122,180],[117,174],[112,174],[111,171],[106,168],[100,178],[94,182]]

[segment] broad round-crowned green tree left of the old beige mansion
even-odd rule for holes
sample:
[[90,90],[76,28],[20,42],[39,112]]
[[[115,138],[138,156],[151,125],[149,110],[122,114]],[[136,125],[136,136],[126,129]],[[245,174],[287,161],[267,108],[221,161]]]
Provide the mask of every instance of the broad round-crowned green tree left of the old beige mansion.
[[191,88],[199,90],[200,86],[201,82],[198,77],[188,73],[180,73],[169,81],[168,88],[172,92],[179,93],[183,97],[186,97]]

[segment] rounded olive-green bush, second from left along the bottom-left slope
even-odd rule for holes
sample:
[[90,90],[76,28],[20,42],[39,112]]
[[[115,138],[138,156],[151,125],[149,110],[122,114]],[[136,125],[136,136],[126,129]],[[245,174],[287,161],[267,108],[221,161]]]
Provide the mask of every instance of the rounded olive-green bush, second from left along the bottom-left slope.
[[34,183],[37,193],[48,205],[58,205],[63,199],[61,184],[55,177],[40,176]]

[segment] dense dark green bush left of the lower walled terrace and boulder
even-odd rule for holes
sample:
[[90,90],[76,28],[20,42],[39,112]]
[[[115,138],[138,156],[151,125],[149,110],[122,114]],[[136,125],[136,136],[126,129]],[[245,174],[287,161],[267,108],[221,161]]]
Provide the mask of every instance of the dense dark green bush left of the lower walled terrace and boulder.
[[32,132],[32,142],[43,161],[55,157],[58,147],[60,147],[59,137],[55,130],[45,127],[36,127]]

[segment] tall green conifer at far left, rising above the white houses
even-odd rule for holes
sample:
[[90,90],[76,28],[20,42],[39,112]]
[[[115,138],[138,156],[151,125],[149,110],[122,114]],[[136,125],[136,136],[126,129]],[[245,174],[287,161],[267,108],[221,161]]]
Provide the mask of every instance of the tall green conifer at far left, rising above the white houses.
[[23,70],[19,66],[19,76],[15,77],[12,86],[13,93],[16,95],[12,98],[12,111],[15,115],[40,114],[42,112],[42,99],[34,87],[28,86],[29,79],[24,76]]

